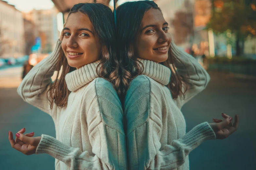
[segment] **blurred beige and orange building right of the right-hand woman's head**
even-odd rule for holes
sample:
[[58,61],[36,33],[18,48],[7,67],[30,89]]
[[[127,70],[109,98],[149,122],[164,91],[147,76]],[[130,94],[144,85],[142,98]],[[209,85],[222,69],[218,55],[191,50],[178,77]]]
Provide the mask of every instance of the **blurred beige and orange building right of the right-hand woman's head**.
[[[170,33],[180,34],[178,37],[173,36],[176,43],[184,49],[194,50],[198,55],[209,54],[209,33],[204,28],[211,18],[210,0],[155,0],[155,2],[170,25]],[[177,29],[178,26],[181,28]],[[186,36],[183,41],[177,39],[182,34]]]

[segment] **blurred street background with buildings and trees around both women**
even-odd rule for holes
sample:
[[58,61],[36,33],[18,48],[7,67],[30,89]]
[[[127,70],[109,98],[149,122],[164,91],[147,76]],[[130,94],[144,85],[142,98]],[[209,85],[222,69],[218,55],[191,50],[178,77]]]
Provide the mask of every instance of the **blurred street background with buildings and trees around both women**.
[[[68,11],[79,2],[94,0],[0,0],[0,170],[54,170],[54,158],[12,149],[7,134],[25,127],[35,136],[55,137],[52,118],[16,91],[29,70],[55,48]],[[113,0],[96,2],[113,9]],[[227,139],[206,141],[189,154],[190,169],[256,170],[256,0],[155,2],[175,43],[211,76],[206,90],[181,110],[187,132],[222,119],[221,113],[240,118],[238,130]]]

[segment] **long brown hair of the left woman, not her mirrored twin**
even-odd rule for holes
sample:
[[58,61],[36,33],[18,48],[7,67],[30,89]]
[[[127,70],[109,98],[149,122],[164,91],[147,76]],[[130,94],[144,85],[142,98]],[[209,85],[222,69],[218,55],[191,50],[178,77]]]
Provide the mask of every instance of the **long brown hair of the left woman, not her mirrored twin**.
[[[116,69],[118,60],[116,58],[116,39],[112,10],[99,3],[79,3],[71,8],[68,17],[76,12],[82,12],[89,17],[93,25],[93,33],[101,43],[101,55],[99,56],[99,64],[96,68],[98,76],[113,82],[115,90],[118,91],[118,84],[120,84],[118,78],[121,73]],[[62,72],[60,73],[61,67]],[[57,78],[59,75],[60,78],[55,80],[47,92],[47,99],[51,104],[51,108],[54,103],[59,107],[67,105],[70,91],[67,88],[65,76],[74,70],[76,68],[68,65],[64,51],[60,50],[57,63]]]

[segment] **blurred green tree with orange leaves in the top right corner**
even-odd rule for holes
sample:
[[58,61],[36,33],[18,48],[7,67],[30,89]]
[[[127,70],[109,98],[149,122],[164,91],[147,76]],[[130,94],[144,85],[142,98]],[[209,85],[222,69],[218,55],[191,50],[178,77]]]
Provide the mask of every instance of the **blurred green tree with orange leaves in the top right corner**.
[[236,55],[243,54],[247,36],[256,36],[256,0],[212,0],[212,4],[206,28],[215,34],[231,30],[236,36]]

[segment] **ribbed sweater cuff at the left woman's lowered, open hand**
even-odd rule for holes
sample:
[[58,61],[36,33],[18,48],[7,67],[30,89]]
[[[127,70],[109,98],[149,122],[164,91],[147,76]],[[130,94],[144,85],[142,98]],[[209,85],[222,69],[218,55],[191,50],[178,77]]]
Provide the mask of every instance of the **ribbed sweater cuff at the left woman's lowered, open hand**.
[[44,134],[36,149],[36,154],[46,153],[59,160],[63,160],[71,152],[72,148],[70,146],[63,144],[52,136]]

